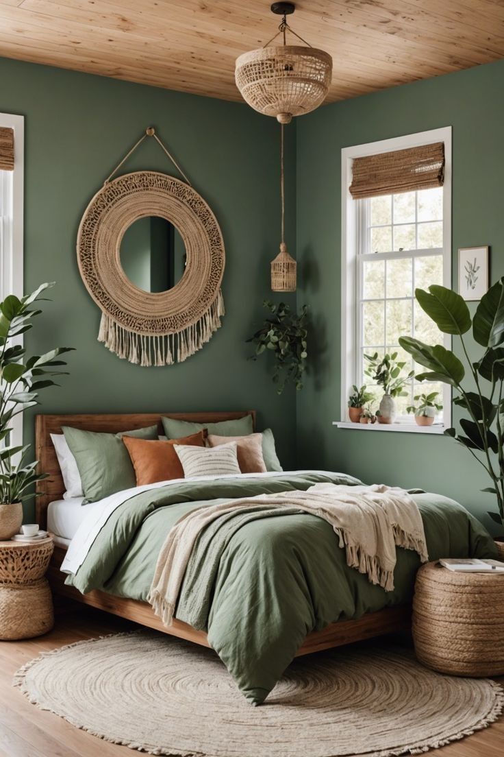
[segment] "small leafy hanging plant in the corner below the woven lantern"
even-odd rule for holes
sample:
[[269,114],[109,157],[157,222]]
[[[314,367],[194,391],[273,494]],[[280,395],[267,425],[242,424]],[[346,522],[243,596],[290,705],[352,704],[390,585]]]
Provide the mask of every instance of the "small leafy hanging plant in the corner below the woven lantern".
[[282,394],[287,382],[293,382],[299,391],[303,388],[303,373],[308,357],[308,307],[303,305],[301,313],[292,313],[289,305],[283,302],[275,305],[264,300],[264,307],[271,312],[261,329],[246,341],[255,343],[255,355],[250,360],[257,360],[266,350],[271,350],[275,357],[273,381],[278,384],[277,394]]

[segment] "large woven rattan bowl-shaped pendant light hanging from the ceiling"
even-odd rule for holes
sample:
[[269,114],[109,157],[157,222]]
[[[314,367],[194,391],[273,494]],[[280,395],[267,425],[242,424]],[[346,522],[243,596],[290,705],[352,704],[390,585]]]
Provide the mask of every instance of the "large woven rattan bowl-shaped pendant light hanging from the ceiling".
[[[294,13],[294,3],[274,2],[271,10],[283,16],[279,31],[263,48],[237,58],[235,80],[243,99],[266,116],[275,116],[280,123],[290,123],[292,116],[314,111],[326,98],[332,76],[329,53],[312,48],[286,22]],[[286,45],[289,31],[305,47]],[[279,34],[283,45],[271,45]]]

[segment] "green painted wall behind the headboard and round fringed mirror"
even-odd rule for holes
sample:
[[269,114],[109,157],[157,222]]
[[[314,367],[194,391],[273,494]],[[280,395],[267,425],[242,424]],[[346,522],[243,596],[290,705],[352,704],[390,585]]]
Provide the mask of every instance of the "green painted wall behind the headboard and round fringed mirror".
[[[246,104],[6,59],[0,59],[0,112],[26,117],[25,290],[57,281],[27,346],[38,353],[57,344],[77,347],[71,375],[42,395],[43,412],[255,408],[259,428],[274,428],[283,463],[293,466],[294,394],[277,397],[266,361],[249,363],[244,343],[263,316],[269,261],[280,241],[277,123]],[[131,365],[97,342],[100,313],[76,264],[76,233],[89,199],[150,124],[214,210],[227,253],[223,326],[185,363],[164,368]],[[287,140],[294,249],[295,127]],[[153,140],[126,167],[139,169],[175,173]],[[30,441],[32,416],[25,426]]]

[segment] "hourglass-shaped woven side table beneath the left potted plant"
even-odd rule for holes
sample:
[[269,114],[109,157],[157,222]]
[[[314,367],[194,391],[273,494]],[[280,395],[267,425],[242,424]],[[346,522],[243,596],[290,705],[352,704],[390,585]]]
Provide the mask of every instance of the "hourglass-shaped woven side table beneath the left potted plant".
[[54,625],[51,589],[44,578],[54,544],[0,541],[0,639],[41,636]]

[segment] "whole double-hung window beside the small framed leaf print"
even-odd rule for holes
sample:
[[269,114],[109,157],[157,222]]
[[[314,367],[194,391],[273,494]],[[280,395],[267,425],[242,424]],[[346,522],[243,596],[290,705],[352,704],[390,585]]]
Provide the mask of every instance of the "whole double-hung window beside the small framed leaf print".
[[[419,160],[422,154],[423,164]],[[429,165],[430,154],[434,155],[432,164],[439,160],[441,168],[438,178],[429,182],[425,181],[425,175],[433,170]],[[436,154],[441,157],[435,158]],[[402,160],[396,160],[395,156]],[[358,159],[363,159],[357,166],[363,176],[359,173],[356,178],[354,161]],[[375,159],[382,159],[385,179],[391,168],[397,175],[384,181],[384,171],[375,172]],[[415,160],[419,160],[417,165]],[[408,161],[413,161],[413,170],[410,167],[413,179],[407,176]],[[401,170],[405,171],[404,177]],[[414,178],[415,172],[420,175],[419,180]],[[422,174],[427,188],[423,188]],[[401,191],[403,188],[405,191]],[[447,336],[438,331],[415,299],[416,288],[427,289],[431,284],[450,286],[450,188],[450,128],[342,150],[343,425],[348,420],[347,400],[352,385],[367,385],[376,397],[375,410],[383,394],[382,388],[364,372],[366,355],[383,357],[397,353],[396,360],[406,363],[404,374],[412,370],[419,373],[424,369],[401,349],[400,336],[450,346]],[[414,376],[405,383],[404,396],[395,399],[394,424],[376,426],[373,430],[422,431],[425,427],[414,423],[407,407],[414,403],[415,395],[434,391],[438,391],[437,401],[441,400],[444,409],[428,431],[443,431],[450,423],[449,388],[441,383],[417,382]]]

